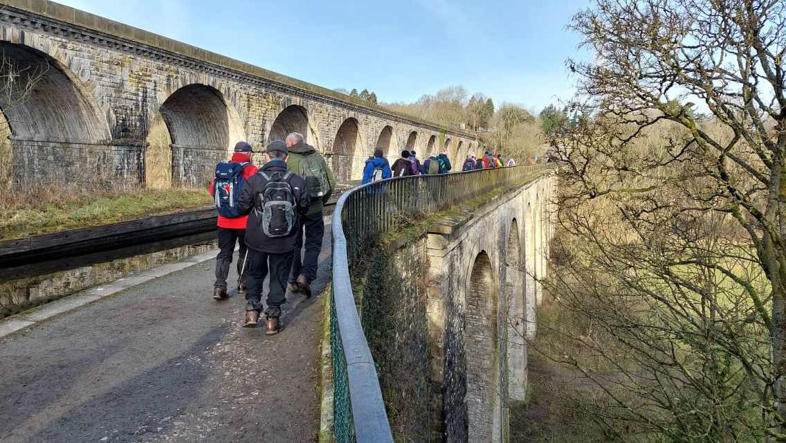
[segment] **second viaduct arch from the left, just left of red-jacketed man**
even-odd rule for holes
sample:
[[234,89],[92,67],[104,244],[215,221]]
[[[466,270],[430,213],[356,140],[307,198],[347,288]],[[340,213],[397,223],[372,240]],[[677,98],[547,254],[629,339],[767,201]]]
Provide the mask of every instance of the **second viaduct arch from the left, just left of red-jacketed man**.
[[[172,185],[210,183],[215,164],[226,160],[232,146],[244,138],[237,112],[208,85],[190,84],[174,91],[159,114],[147,135],[145,183],[149,186],[167,186],[161,179],[167,171]],[[164,160],[167,155],[171,161]]]

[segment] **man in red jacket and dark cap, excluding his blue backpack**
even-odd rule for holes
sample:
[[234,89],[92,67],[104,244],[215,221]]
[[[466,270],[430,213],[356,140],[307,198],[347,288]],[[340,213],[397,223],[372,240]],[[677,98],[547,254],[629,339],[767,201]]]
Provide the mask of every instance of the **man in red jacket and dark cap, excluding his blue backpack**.
[[[251,145],[247,142],[237,142],[235,145],[235,152],[232,154],[233,163],[250,163],[254,151]],[[243,168],[242,174],[244,179],[256,174],[257,168],[253,164],[248,164]],[[242,190],[242,188],[241,188]],[[215,179],[210,183],[210,194],[215,197]],[[240,190],[238,190],[240,194]],[[239,241],[241,245],[240,255],[237,260],[237,275],[243,274],[243,261],[246,257],[245,245],[245,225],[248,221],[248,216],[239,216],[228,218],[219,214],[219,252],[218,257],[215,257],[215,287],[213,289],[213,298],[215,300],[226,300],[229,296],[226,295],[226,277],[230,275],[230,264],[232,264],[232,254],[235,251],[235,242]],[[237,292],[245,292],[245,281],[241,278],[241,282],[237,285]]]

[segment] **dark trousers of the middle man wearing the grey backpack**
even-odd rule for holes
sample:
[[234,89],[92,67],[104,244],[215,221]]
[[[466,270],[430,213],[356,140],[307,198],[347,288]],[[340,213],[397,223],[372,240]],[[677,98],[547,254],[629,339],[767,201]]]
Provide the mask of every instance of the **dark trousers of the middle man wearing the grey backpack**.
[[286,297],[284,293],[287,286],[287,275],[292,268],[294,251],[273,254],[263,253],[255,249],[248,249],[248,264],[246,265],[246,311],[262,311],[262,288],[268,272],[270,284],[267,293],[267,315],[277,317],[281,315],[281,305]]

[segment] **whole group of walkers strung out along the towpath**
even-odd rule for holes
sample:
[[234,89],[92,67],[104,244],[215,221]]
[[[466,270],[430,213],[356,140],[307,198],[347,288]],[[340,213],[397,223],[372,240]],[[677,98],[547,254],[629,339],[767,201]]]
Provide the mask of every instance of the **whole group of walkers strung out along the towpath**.
[[[237,242],[237,293],[244,293],[246,300],[243,326],[257,327],[264,308],[263,282],[270,274],[265,332],[277,334],[284,328],[280,317],[286,291],[311,296],[325,235],[322,209],[336,182],[325,158],[297,132],[287,135],[285,141],[270,142],[261,168],[252,164],[253,154],[248,142],[237,142],[230,161],[222,161],[215,168],[210,192],[219,212],[220,251],[213,298],[229,299],[226,279]],[[507,165],[515,164],[510,159]],[[502,166],[500,155],[487,152],[477,159],[468,155],[461,171]],[[382,150],[376,149],[365,161],[362,183],[405,175],[447,174],[452,168],[446,153],[432,153],[421,163],[413,150],[402,151],[391,167]]]

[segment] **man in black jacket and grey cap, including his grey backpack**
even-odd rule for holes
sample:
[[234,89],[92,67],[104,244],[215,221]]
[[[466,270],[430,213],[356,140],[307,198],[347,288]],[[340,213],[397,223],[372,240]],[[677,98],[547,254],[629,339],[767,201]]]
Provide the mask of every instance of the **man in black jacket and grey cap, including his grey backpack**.
[[286,301],[287,277],[292,270],[292,256],[299,231],[299,217],[310,205],[306,181],[287,170],[287,145],[274,140],[266,148],[267,163],[252,175],[238,201],[238,212],[249,214],[245,242],[246,314],[243,327],[256,327],[262,312],[262,290],[270,274],[265,310],[265,334],[277,334],[281,305]]

